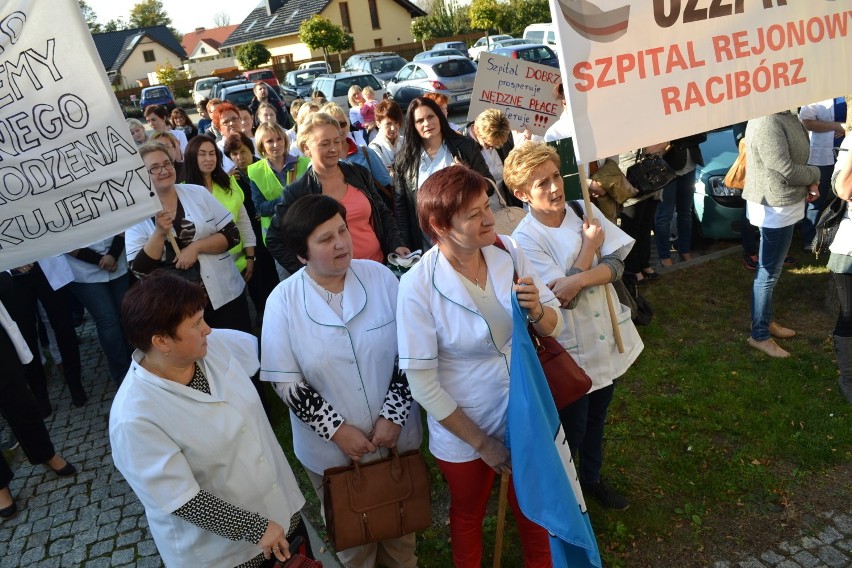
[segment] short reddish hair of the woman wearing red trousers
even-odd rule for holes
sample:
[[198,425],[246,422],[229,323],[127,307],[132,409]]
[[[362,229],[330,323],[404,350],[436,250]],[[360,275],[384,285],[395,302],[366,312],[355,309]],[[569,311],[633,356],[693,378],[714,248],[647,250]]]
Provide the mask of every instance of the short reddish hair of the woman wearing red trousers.
[[440,229],[453,224],[453,215],[488,190],[485,177],[467,166],[447,166],[430,175],[417,190],[417,221],[429,238],[438,239],[438,233],[429,223],[434,219]]

